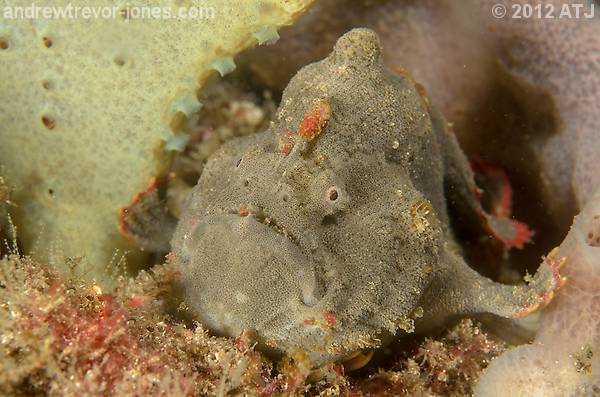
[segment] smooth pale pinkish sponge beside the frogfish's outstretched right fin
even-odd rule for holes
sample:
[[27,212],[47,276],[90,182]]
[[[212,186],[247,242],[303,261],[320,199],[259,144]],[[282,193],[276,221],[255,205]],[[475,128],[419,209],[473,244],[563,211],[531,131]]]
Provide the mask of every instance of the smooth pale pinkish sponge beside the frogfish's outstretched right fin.
[[481,376],[475,396],[600,393],[600,190],[591,195],[549,257],[566,258],[565,286],[542,312],[533,344],[494,360]]

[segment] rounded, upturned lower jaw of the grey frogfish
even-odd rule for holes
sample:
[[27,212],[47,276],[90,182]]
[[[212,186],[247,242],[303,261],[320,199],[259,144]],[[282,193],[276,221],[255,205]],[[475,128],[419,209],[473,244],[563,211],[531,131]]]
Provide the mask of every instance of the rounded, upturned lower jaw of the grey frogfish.
[[202,217],[183,235],[179,254],[186,294],[218,334],[277,330],[270,336],[280,339],[319,306],[312,261],[262,212]]

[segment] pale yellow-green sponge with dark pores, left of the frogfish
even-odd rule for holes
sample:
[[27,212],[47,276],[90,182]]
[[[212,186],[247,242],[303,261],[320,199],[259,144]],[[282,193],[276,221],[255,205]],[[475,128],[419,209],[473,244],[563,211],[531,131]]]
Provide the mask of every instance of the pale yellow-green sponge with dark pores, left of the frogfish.
[[193,99],[215,60],[256,44],[255,33],[265,27],[292,23],[312,1],[153,4],[173,16],[196,7],[204,14],[195,19],[134,18],[130,11],[144,1],[97,1],[118,12],[96,19],[15,19],[31,1],[4,7],[0,166],[17,187],[13,215],[25,249],[42,259],[53,246],[66,256],[85,255],[90,276],[107,280],[97,264],[115,248],[133,249],[118,234],[118,209],[166,172],[165,142],[193,119],[200,107]]

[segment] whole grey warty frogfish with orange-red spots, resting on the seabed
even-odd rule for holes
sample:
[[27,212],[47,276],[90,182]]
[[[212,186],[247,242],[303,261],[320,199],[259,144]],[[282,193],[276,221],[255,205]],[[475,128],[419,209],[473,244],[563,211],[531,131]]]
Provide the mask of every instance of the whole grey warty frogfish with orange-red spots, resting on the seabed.
[[213,154],[170,260],[204,325],[319,365],[415,321],[516,317],[548,302],[561,281],[551,264],[509,286],[459,254],[448,206],[523,243],[522,225],[486,214],[476,192],[444,119],[407,74],[383,66],[376,34],[356,29],[292,79],[267,131]]

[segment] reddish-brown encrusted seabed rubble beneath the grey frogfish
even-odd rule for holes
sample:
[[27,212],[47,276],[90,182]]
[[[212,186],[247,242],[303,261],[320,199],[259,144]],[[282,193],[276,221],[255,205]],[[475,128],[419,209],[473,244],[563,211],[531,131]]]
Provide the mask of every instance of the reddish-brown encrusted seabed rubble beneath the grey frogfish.
[[114,294],[83,281],[76,261],[65,266],[72,273],[61,278],[30,258],[0,259],[2,395],[467,396],[504,349],[465,320],[387,369],[350,377],[329,364],[313,373],[301,351],[273,363],[247,333],[210,337],[165,315],[178,277],[169,266],[121,279]]

